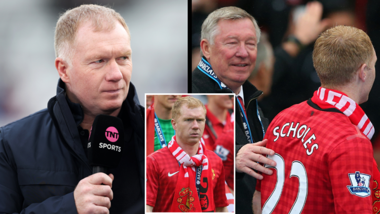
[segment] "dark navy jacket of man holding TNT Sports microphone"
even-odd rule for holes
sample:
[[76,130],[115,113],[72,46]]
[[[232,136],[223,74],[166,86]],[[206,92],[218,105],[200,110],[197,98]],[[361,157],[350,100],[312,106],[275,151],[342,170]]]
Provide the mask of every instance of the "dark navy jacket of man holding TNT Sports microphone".
[[[78,106],[69,107],[64,83],[59,80],[57,95],[49,100],[47,109],[0,128],[0,213],[77,213],[73,191],[92,173],[77,127],[83,118],[72,113]],[[115,175],[110,213],[123,213],[126,206],[139,211],[145,207],[145,111],[132,83],[121,112],[128,119],[122,118],[129,127],[125,148],[134,148],[139,184],[123,183],[130,173],[124,152],[118,168],[109,171]],[[133,204],[138,207],[126,205],[128,196],[133,196],[126,192],[130,185],[141,189],[142,195],[134,196],[138,200]]]

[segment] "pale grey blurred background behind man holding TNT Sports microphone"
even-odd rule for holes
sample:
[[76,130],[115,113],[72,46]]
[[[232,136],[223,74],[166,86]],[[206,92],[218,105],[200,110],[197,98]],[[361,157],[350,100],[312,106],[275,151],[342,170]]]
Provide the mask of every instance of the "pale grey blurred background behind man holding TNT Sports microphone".
[[1,1],[0,126],[45,109],[55,96],[55,25],[82,4],[108,5],[125,19],[141,105],[145,93],[187,92],[187,1]]

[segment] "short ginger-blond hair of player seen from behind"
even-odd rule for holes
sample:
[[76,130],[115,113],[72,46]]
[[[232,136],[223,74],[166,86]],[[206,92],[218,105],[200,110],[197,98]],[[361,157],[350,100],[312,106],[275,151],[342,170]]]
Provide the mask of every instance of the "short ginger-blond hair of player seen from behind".
[[313,63],[324,86],[340,86],[353,80],[356,70],[372,63],[373,47],[361,29],[339,25],[324,31],[317,39]]

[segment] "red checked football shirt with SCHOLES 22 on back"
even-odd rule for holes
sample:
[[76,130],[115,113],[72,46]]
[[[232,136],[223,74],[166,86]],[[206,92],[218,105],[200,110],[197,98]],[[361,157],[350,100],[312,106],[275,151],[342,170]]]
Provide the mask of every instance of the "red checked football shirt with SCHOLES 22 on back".
[[277,166],[256,188],[262,213],[372,213],[371,142],[346,115],[311,105],[282,111],[265,133]]

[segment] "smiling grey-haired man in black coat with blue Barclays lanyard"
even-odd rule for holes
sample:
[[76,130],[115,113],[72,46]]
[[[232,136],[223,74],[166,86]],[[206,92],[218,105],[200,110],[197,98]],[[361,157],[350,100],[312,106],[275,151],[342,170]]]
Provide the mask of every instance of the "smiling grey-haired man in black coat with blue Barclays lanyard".
[[274,151],[261,141],[269,124],[257,105],[262,91],[247,81],[255,67],[260,33],[246,11],[237,7],[215,10],[202,24],[202,59],[192,74],[192,93],[236,94],[236,212],[242,213],[252,211],[256,179],[262,179],[254,170],[273,173],[257,162],[276,165],[263,156]]

